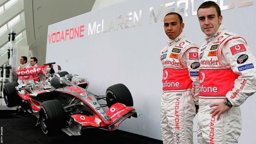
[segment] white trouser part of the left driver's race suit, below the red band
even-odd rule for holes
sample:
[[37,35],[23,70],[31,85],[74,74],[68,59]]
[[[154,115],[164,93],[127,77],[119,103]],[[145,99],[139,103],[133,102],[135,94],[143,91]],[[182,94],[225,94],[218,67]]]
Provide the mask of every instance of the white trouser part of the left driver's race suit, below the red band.
[[163,144],[193,144],[195,114],[190,90],[164,93],[160,117]]

